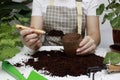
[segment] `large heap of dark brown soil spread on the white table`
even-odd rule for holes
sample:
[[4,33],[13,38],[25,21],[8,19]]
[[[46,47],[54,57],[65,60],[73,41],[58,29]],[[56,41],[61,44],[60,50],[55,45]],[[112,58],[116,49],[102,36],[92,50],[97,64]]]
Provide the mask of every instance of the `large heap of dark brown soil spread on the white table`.
[[37,71],[42,70],[44,74],[51,76],[86,75],[89,67],[104,67],[103,58],[95,54],[70,57],[64,51],[51,50],[38,51],[32,57],[25,64],[32,66]]

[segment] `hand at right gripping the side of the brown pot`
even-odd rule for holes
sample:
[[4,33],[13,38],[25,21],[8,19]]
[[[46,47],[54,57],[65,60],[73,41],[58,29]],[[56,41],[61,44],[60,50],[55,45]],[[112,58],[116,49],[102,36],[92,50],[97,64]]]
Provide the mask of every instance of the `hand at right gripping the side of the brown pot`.
[[79,48],[76,50],[76,52],[77,55],[84,55],[93,53],[95,49],[95,41],[90,36],[85,36],[85,38],[80,42]]

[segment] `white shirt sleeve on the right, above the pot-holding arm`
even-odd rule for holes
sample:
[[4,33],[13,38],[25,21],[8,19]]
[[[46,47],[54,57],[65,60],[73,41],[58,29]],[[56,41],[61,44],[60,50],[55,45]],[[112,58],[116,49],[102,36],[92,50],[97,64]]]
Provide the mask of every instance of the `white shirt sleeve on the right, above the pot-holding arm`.
[[98,0],[89,0],[86,15],[96,16],[96,9],[98,8]]

